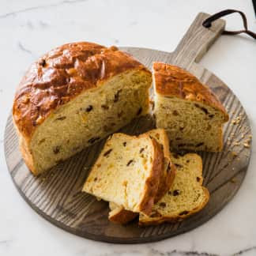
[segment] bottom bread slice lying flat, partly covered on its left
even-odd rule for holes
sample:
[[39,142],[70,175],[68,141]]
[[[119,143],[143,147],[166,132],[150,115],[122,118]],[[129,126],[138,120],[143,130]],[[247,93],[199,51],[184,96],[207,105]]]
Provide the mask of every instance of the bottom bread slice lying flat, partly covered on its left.
[[184,220],[198,213],[209,201],[209,191],[202,186],[201,157],[194,153],[173,156],[171,160],[177,168],[171,190],[152,208],[149,216],[140,213],[141,226]]

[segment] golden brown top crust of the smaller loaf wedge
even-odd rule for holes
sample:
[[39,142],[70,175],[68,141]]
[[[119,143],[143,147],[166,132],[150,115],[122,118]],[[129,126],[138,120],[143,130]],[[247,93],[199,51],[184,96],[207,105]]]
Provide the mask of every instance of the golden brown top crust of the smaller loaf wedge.
[[202,85],[193,74],[183,70],[179,66],[154,62],[153,76],[156,93],[160,96],[175,96],[184,100],[197,101],[221,111],[224,121],[228,121],[228,113],[216,95]]

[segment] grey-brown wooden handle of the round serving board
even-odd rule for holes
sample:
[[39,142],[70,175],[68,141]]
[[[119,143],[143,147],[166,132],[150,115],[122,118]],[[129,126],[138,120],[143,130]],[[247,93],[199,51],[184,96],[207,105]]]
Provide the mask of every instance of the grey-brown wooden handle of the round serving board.
[[194,62],[200,61],[209,47],[221,35],[225,28],[225,21],[214,21],[210,28],[205,28],[202,23],[208,17],[210,17],[208,13],[198,13],[173,52],[172,64],[189,70]]

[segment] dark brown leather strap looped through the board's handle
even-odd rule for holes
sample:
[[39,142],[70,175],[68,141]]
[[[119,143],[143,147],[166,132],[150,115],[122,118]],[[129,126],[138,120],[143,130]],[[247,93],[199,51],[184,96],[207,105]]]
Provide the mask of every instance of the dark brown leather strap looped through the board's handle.
[[207,18],[202,23],[202,25],[205,28],[210,28],[212,26],[212,22],[213,21],[216,21],[220,17],[224,17],[224,16],[226,16],[228,14],[231,14],[231,13],[239,13],[241,15],[241,17],[243,18],[243,27],[244,27],[244,29],[238,30],[238,31],[227,31],[227,30],[224,30],[223,34],[225,34],[225,35],[238,35],[240,33],[246,33],[248,36],[251,36],[251,37],[253,37],[256,40],[256,33],[251,32],[247,28],[247,17],[246,17],[246,15],[243,12],[241,12],[239,10],[236,10],[236,9],[225,9],[225,10],[221,11],[220,13],[215,13],[212,16],[210,16],[209,18]]

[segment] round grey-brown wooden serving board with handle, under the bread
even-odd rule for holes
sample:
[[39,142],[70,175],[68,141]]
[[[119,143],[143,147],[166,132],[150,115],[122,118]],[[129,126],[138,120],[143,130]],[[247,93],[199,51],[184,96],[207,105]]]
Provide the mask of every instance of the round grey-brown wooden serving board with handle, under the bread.
[[[250,148],[247,147],[250,124],[243,106],[232,90],[209,70],[198,65],[200,58],[220,36],[225,25],[224,21],[219,20],[215,21],[211,28],[204,28],[201,24],[206,17],[209,15],[198,14],[173,53],[136,47],[122,48],[149,68],[154,61],[182,66],[209,85],[227,108],[230,121],[224,127],[223,152],[201,152],[204,185],[210,193],[210,200],[205,209],[176,224],[160,224],[148,228],[139,228],[137,221],[126,226],[113,224],[107,220],[107,202],[97,201],[91,195],[81,193],[88,171],[104,141],[92,145],[51,171],[35,177],[21,158],[17,135],[9,116],[5,134],[6,162],[13,183],[32,209],[59,228],[88,239],[110,243],[145,243],[196,228],[228,204],[239,190],[247,172],[250,161]],[[134,120],[123,128],[122,132],[141,134],[153,127],[152,117],[145,116]]]

